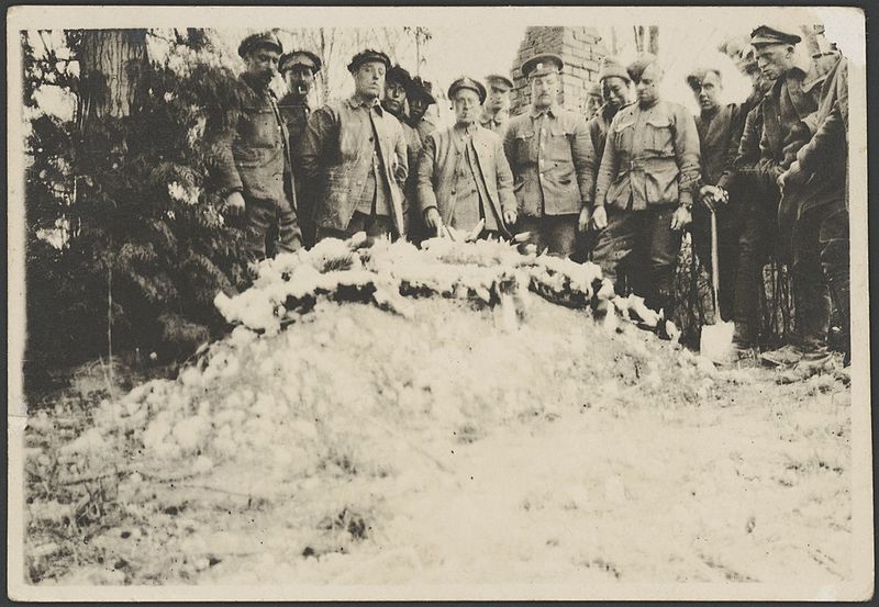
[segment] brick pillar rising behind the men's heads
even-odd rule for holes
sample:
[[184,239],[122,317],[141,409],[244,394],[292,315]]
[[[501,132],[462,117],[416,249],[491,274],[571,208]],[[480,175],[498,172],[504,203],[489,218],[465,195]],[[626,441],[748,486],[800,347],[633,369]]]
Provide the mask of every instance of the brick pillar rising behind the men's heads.
[[531,104],[531,88],[522,76],[522,64],[539,53],[555,53],[565,61],[558,101],[565,108],[579,111],[586,93],[598,81],[601,59],[608,54],[594,27],[528,27],[513,61],[513,92],[510,95],[511,115],[521,114]]

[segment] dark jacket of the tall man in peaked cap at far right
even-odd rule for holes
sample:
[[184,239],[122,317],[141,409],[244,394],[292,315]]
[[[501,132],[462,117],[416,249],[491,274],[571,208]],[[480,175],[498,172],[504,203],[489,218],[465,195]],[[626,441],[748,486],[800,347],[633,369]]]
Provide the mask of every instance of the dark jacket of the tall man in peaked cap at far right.
[[[790,168],[797,151],[817,130],[817,105],[821,87],[836,56],[825,55],[808,66],[794,66],[776,80],[763,101],[763,137],[760,170],[777,178]],[[782,99],[783,97],[783,99]],[[789,100],[793,115],[782,115]]]

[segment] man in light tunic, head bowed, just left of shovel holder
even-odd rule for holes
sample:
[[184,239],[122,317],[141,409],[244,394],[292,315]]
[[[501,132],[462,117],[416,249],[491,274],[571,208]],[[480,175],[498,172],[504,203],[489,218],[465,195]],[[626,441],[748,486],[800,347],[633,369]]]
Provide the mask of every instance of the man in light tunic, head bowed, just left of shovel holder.
[[[687,110],[659,98],[663,69],[642,55],[627,70],[637,103],[611,123],[596,184],[594,260],[612,281],[625,265],[633,291],[674,317],[674,279],[682,229],[699,193],[699,135]],[[659,324],[660,335],[665,324]]]

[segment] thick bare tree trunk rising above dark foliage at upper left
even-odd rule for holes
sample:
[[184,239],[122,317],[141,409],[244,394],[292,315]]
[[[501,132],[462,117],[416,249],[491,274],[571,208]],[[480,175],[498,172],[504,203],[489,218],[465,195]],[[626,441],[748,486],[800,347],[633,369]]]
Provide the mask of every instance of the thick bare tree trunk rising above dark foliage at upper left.
[[104,116],[127,116],[146,66],[146,30],[86,30],[79,66],[80,128]]

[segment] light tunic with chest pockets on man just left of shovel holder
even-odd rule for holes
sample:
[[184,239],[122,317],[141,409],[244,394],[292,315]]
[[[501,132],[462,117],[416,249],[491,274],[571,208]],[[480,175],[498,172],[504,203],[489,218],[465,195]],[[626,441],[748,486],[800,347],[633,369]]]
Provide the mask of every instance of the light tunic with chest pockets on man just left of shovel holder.
[[596,184],[596,205],[643,210],[691,204],[701,175],[699,135],[682,105],[657,101],[620,110],[611,122]]

